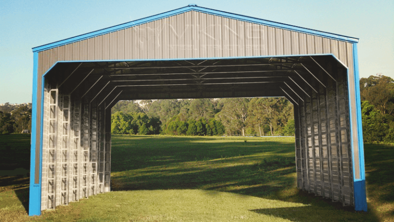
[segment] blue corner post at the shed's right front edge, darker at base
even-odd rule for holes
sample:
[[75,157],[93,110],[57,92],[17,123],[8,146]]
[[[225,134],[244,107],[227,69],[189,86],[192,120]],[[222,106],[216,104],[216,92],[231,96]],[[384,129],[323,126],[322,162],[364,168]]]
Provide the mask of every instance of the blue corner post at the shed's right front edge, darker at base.
[[357,43],[353,43],[353,59],[354,59],[354,84],[356,87],[357,134],[358,134],[358,141],[353,141],[353,142],[354,143],[357,142],[359,144],[359,160],[360,160],[360,179],[356,179],[355,177],[353,177],[354,210],[367,211],[364,142],[363,142],[363,127],[362,127],[363,124],[361,119],[360,76],[359,76],[359,59],[358,59]]

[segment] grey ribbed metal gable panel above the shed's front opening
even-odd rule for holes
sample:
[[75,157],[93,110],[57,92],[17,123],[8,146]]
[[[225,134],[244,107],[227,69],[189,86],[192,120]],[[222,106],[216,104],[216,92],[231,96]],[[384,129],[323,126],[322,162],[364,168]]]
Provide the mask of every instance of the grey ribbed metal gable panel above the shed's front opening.
[[72,60],[332,53],[347,65],[352,49],[346,44],[321,36],[189,11],[40,52],[38,57],[43,63],[39,64],[39,74],[42,75],[56,61]]

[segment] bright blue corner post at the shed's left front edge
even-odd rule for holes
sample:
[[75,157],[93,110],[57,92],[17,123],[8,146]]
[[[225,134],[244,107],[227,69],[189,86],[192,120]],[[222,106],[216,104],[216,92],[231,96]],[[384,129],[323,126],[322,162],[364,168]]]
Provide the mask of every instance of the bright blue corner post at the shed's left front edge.
[[[31,150],[30,150],[30,197],[29,197],[29,216],[41,215],[41,159],[42,153],[40,151],[40,158],[36,159],[35,149],[36,144],[40,143],[41,140],[37,141],[37,122],[41,122],[37,119],[37,84],[38,84],[38,52],[33,53],[33,93],[32,93],[32,114],[31,114]],[[42,135],[40,135],[41,138]],[[40,162],[40,171],[35,172],[35,163]],[[35,174],[40,174],[40,180],[38,183],[34,180]]]

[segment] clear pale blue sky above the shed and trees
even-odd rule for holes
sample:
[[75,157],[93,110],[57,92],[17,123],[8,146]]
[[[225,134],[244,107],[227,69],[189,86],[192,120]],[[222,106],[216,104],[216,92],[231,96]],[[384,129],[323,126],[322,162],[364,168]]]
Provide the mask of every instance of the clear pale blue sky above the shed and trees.
[[0,103],[31,102],[31,48],[189,4],[359,38],[360,77],[394,78],[394,1],[0,1]]

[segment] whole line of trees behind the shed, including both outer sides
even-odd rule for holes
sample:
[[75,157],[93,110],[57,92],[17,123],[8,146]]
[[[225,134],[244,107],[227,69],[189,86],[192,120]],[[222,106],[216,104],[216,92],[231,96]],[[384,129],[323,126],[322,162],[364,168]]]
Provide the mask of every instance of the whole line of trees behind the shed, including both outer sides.
[[[394,80],[360,79],[366,143],[394,142]],[[141,104],[141,105],[140,105]],[[112,108],[112,134],[294,135],[293,106],[284,98],[120,101]],[[31,130],[31,103],[0,105],[0,134]]]

